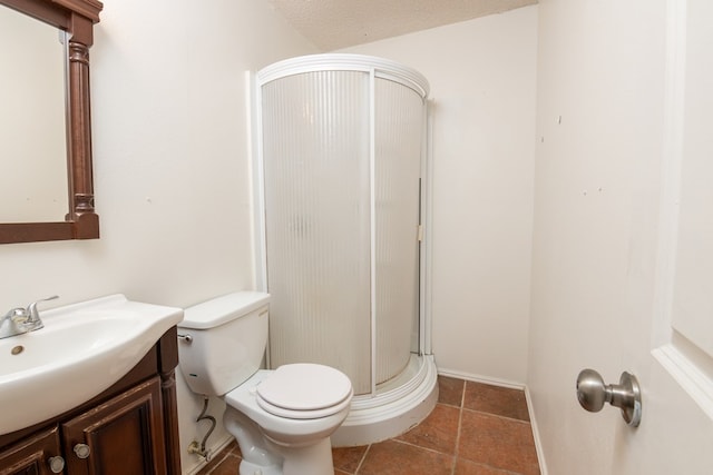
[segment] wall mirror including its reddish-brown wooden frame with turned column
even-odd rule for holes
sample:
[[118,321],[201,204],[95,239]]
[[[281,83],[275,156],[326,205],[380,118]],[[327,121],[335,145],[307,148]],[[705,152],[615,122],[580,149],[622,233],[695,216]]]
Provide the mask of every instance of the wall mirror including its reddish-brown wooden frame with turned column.
[[[0,0],[0,6],[9,7],[30,17],[33,22],[46,23],[55,29],[51,34],[55,47],[59,43],[58,38],[65,38],[64,44],[59,43],[58,50],[60,58],[61,71],[59,78],[52,80],[52,85],[41,86],[42,92],[62,89],[62,111],[51,112],[51,102],[56,99],[46,100],[40,97],[39,92],[32,98],[32,101],[39,103],[42,110],[41,116],[36,116],[30,122],[39,122],[47,120],[52,123],[53,130],[47,131],[27,131],[22,133],[28,137],[25,141],[39,142],[42,147],[53,142],[55,151],[41,149],[35,152],[22,151],[22,154],[42,155],[45,157],[32,157],[32,159],[46,159],[48,161],[40,165],[32,165],[31,169],[22,170],[20,160],[22,155],[20,151],[9,151],[2,149],[3,162],[0,167],[4,171],[0,175],[11,176],[14,184],[22,185],[22,180],[30,178],[40,181],[40,188],[46,197],[25,194],[22,187],[12,185],[16,196],[6,199],[2,196],[3,207],[11,207],[10,212],[3,212],[0,219],[7,222],[0,224],[0,244],[8,243],[31,243],[47,240],[66,240],[66,239],[92,239],[99,237],[99,217],[94,208],[94,180],[91,171],[91,128],[90,128],[90,108],[89,108],[89,47],[92,43],[92,27],[99,21],[99,12],[102,9],[101,2],[97,0]],[[0,7],[7,10],[4,7]],[[27,20],[27,19],[25,19]],[[38,22],[39,20],[39,22]],[[14,21],[14,20],[11,20]],[[37,27],[37,26],[36,26]],[[33,27],[29,27],[36,29]],[[64,32],[59,34],[57,29]],[[0,28],[3,34],[8,34],[8,30]],[[18,33],[19,34],[19,33]],[[42,36],[45,33],[36,33]],[[18,44],[22,42],[22,38],[12,36],[4,38],[4,43]],[[26,40],[27,42],[27,40]],[[36,42],[35,40],[32,42]],[[25,53],[27,55],[27,53]],[[51,53],[50,53],[51,55]],[[35,52],[31,55],[35,56]],[[39,55],[38,55],[39,56]],[[3,58],[6,65],[11,59]],[[48,62],[52,62],[48,60]],[[13,63],[14,65],[14,63]],[[66,66],[65,66],[66,65]],[[48,65],[35,65],[32,68],[46,68]],[[66,70],[65,70],[66,68]],[[7,71],[14,71],[13,68],[7,68]],[[45,71],[45,69],[42,69]],[[35,76],[43,76],[41,75]],[[56,73],[52,75],[55,78]],[[66,81],[65,81],[66,79]],[[3,79],[2,85],[8,83],[11,79]],[[4,86],[3,86],[4,87]],[[65,93],[66,90],[66,93]],[[19,96],[19,93],[18,93]],[[66,96],[66,100],[65,100]],[[13,96],[14,97],[14,96]],[[4,102],[3,102],[4,103]],[[29,108],[28,108],[29,109]],[[0,115],[7,115],[7,108]],[[57,116],[61,113],[62,117]],[[0,119],[2,125],[8,118]],[[11,120],[19,122],[20,120]],[[60,130],[56,130],[59,128]],[[20,133],[20,132],[16,132]],[[59,136],[59,138],[57,138]],[[57,145],[59,144],[59,145]],[[66,146],[64,145],[66,144]],[[56,148],[64,149],[57,157]],[[52,161],[55,160],[55,161]],[[59,161],[58,165],[56,161]],[[57,171],[61,170],[61,171]],[[22,176],[21,174],[27,174]],[[51,184],[50,184],[51,182]],[[65,197],[59,198],[59,195]],[[68,197],[68,206],[67,198]],[[22,212],[21,208],[26,202],[30,201],[58,201],[53,210],[32,212]],[[20,208],[20,209],[18,209]],[[51,206],[50,206],[51,208]],[[52,218],[52,212],[60,212]],[[64,220],[61,215],[65,214]]]

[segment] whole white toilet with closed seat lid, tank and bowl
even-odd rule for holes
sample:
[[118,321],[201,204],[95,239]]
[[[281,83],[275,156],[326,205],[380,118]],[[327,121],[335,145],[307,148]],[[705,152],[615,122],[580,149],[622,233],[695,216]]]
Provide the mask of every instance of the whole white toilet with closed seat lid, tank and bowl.
[[187,308],[178,324],[180,370],[192,392],[225,400],[240,475],[333,475],[330,436],[346,418],[352,384],[324,365],[260,369],[268,310],[270,295],[257,291]]

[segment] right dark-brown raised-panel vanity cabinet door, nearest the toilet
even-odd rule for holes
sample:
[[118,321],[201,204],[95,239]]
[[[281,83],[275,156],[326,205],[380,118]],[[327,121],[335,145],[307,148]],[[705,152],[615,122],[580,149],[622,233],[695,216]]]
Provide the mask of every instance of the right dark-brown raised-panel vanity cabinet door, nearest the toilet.
[[61,431],[71,475],[166,473],[158,377],[62,424]]

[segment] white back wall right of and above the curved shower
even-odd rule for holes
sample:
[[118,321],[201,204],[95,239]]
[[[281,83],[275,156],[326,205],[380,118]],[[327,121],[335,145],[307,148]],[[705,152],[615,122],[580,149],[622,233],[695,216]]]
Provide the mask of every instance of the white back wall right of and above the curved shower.
[[537,7],[342,51],[399,61],[431,85],[439,370],[524,383]]

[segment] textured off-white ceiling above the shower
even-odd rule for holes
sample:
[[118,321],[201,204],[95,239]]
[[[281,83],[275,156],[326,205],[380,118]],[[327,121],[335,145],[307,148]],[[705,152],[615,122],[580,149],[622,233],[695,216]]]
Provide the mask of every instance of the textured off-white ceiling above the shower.
[[267,0],[322,51],[398,37],[537,0]]

